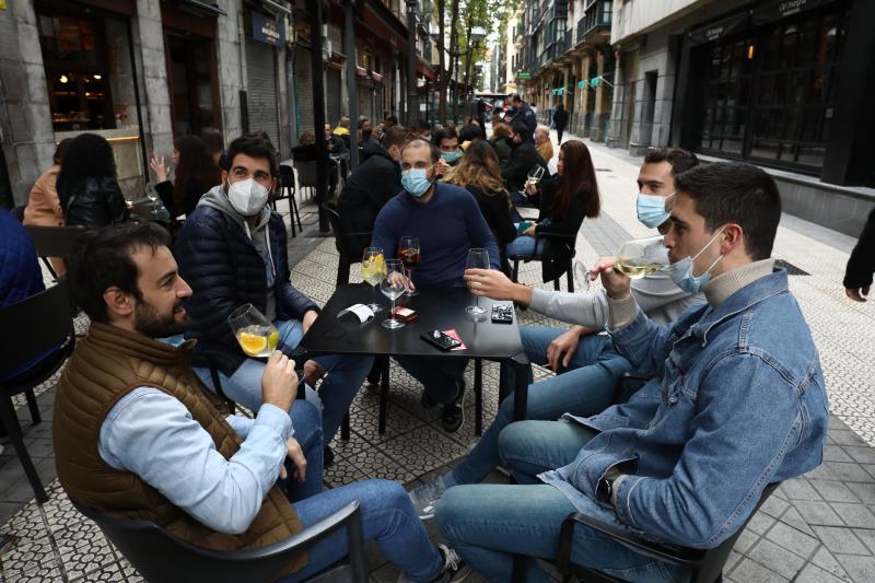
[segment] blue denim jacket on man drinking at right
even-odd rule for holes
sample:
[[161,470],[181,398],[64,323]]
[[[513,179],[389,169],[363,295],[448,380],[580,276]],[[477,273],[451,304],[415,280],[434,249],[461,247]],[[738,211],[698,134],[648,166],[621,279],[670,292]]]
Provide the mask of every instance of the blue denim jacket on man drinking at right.
[[768,483],[820,464],[824,375],[785,271],[716,308],[692,306],[674,325],[658,327],[639,310],[608,331],[634,370],[653,378],[629,403],[574,418],[599,433],[541,479],[578,508],[592,505],[579,497],[596,500],[600,478],[619,466],[627,475],[615,495],[620,523],[712,548],[742,525]]

